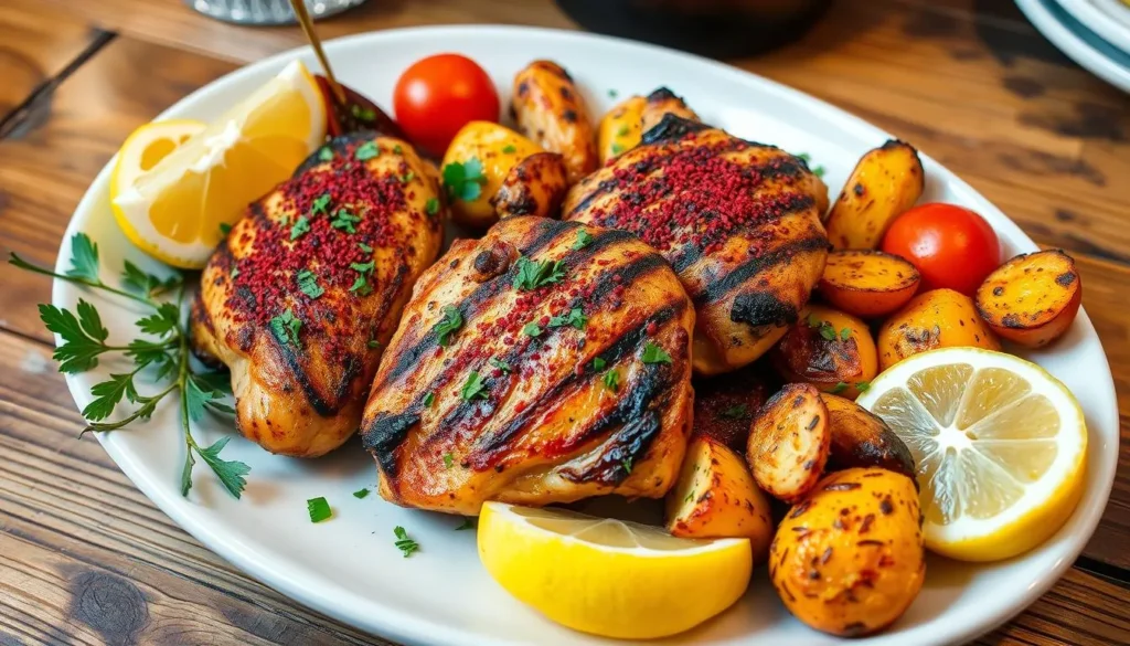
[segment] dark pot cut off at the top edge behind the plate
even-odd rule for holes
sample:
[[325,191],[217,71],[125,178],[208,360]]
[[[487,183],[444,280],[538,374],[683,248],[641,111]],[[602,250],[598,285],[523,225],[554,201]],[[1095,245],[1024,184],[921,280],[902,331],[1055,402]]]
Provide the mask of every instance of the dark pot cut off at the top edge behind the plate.
[[832,0],[556,1],[591,32],[723,59],[791,43],[832,5]]

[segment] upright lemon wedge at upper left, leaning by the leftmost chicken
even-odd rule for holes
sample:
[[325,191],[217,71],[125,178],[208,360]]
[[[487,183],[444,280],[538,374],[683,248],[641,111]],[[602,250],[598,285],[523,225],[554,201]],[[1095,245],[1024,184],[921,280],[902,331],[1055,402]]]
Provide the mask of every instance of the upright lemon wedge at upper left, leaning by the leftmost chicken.
[[[134,148],[147,144],[146,128],[127,140],[121,161],[145,157]],[[203,267],[221,225],[240,219],[324,138],[318,85],[295,61],[156,165],[115,184],[114,216],[130,241],[158,260]]]

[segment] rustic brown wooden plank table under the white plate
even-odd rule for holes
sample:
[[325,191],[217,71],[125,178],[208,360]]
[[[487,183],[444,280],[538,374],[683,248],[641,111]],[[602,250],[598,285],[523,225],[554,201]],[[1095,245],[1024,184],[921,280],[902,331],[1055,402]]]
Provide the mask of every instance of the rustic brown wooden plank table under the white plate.
[[[321,29],[451,23],[575,28],[550,0],[373,0]],[[302,42],[297,28],[233,27],[179,0],[0,0],[0,252],[52,264],[133,128]],[[979,644],[1130,643],[1130,97],[1007,0],[844,0],[803,42],[730,62],[913,141],[1078,259],[1119,390],[1122,468],[1075,567]],[[381,643],[237,572],[93,438],[76,439],[82,422],[35,311],[50,283],[2,266],[0,285],[0,644]]]

